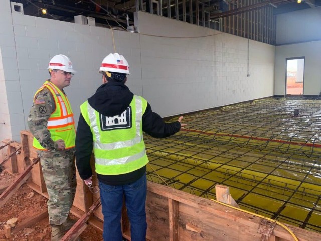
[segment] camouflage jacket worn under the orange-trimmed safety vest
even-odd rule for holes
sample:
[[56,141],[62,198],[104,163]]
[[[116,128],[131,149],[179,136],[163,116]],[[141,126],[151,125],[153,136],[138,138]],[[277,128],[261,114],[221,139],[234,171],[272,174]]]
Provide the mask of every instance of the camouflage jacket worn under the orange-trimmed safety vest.
[[[48,80],[50,81],[50,80]],[[65,92],[62,90],[65,94]],[[47,128],[48,119],[56,108],[54,97],[48,88],[43,88],[35,96],[34,103],[28,116],[28,126],[30,132],[39,141],[40,145],[48,151],[38,151],[42,157],[61,157],[75,152],[75,148],[64,151],[57,150],[58,145],[51,139],[50,132]]]

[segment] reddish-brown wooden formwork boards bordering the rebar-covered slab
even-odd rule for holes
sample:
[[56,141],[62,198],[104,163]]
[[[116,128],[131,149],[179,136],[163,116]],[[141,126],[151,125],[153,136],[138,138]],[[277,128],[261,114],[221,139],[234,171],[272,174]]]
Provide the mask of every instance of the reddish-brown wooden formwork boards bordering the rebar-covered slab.
[[[16,160],[9,162],[17,165],[18,172],[26,167],[29,158],[35,158],[37,153],[32,148],[32,135],[28,131],[21,132],[22,154]],[[14,145],[14,144],[13,144]],[[15,144],[16,145],[16,144]],[[16,161],[16,164],[13,163]],[[93,161],[93,160],[92,160]],[[12,168],[12,167],[9,167]],[[33,168],[27,185],[48,197],[44,184],[40,163]],[[98,188],[97,178],[93,178],[93,186]],[[98,193],[91,193],[77,173],[77,191],[72,207],[72,213],[80,217],[88,212],[90,206],[99,198]],[[147,239],[148,240],[296,240],[284,227],[266,227],[262,232],[264,218],[255,214],[245,213],[238,209],[222,205],[215,201],[197,197],[173,188],[147,182]],[[102,230],[103,216],[98,208],[89,223]],[[260,226],[261,225],[261,226]],[[264,225],[267,225],[266,223]],[[299,227],[286,225],[300,241],[321,240],[321,234],[307,231]],[[268,234],[268,229],[271,234]],[[130,240],[129,220],[125,208],[122,215],[123,236]],[[262,233],[265,236],[262,236]]]

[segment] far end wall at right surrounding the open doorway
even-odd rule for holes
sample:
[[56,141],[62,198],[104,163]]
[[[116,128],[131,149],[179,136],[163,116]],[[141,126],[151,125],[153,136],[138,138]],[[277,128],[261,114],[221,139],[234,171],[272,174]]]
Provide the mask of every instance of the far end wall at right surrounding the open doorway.
[[275,95],[285,94],[286,58],[305,57],[304,95],[321,92],[321,8],[277,15]]

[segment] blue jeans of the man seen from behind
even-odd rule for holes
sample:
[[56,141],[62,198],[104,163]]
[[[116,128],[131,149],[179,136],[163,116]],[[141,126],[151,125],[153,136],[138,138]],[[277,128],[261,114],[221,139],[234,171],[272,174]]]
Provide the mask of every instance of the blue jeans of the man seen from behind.
[[132,241],[146,241],[146,173],[127,185],[110,186],[99,181],[102,214],[104,215],[104,241],[122,241],[120,226],[123,196],[130,222]]

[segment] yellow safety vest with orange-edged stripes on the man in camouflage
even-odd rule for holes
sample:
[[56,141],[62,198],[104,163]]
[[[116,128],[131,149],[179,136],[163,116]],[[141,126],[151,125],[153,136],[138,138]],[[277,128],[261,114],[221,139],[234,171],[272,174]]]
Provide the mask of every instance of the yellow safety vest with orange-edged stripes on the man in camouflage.
[[[47,128],[51,134],[53,141],[62,139],[65,141],[65,149],[70,149],[75,147],[76,131],[75,131],[75,121],[74,114],[72,112],[69,100],[67,96],[53,83],[46,81],[40,89],[37,90],[36,95],[43,88],[48,88],[52,94],[56,109],[50,115],[48,119]],[[33,147],[39,150],[46,150],[40,145],[38,140],[34,137]]]

